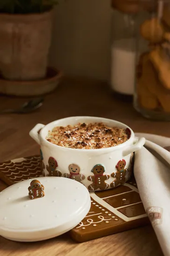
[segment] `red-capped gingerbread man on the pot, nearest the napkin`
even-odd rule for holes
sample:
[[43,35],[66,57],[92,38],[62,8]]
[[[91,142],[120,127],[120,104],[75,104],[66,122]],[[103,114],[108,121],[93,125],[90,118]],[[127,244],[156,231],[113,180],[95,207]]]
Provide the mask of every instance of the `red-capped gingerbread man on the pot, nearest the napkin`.
[[126,161],[124,159],[120,160],[117,165],[116,169],[117,172],[113,172],[111,176],[113,178],[116,178],[111,184],[110,187],[117,187],[118,185],[123,185],[126,182],[126,174],[127,174],[127,169],[124,169],[126,165]]

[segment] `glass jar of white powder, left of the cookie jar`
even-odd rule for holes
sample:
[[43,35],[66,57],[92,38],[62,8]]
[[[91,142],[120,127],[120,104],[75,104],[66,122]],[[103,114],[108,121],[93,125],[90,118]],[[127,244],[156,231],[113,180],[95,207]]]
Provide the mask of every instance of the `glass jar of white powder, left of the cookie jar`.
[[120,95],[134,92],[136,6],[112,0],[110,87]]

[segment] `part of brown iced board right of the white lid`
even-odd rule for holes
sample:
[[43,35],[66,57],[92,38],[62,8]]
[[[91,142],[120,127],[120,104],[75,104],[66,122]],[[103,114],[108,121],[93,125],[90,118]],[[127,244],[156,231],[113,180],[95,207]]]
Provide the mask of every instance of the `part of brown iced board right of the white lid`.
[[87,216],[71,230],[77,242],[96,239],[149,223],[134,181],[114,189],[92,192]]

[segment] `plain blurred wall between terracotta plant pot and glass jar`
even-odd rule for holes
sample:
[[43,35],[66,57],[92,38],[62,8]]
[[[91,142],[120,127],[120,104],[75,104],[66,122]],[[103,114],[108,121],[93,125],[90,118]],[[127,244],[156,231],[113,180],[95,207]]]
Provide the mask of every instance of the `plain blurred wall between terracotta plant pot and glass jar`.
[[66,0],[55,7],[50,63],[73,76],[107,80],[110,0]]

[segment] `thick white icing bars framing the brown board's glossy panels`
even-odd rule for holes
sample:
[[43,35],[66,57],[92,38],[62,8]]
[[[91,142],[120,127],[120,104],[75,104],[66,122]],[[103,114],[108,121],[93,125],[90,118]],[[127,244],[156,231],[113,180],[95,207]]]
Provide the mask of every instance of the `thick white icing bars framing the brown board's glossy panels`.
[[[127,186],[129,188],[131,188],[133,191],[136,191],[138,192],[138,189],[134,186],[131,186],[130,184],[127,184],[125,183],[124,186]],[[139,192],[138,192],[139,193]],[[116,194],[114,196],[117,196],[117,195],[121,195],[121,194],[125,194],[125,193],[119,193],[119,194]],[[138,202],[138,203],[134,203],[134,204],[128,204],[128,205],[124,205],[124,206],[121,206],[121,207],[117,207],[117,208],[114,208],[113,206],[111,206],[110,204],[108,204],[107,202],[105,202],[103,199],[104,198],[107,198],[107,197],[104,197],[104,198],[100,198],[98,197],[94,192],[91,192],[90,193],[90,196],[98,203],[98,204],[101,204],[103,207],[105,207],[106,209],[108,209],[110,212],[112,212],[113,214],[117,215],[119,218],[123,219],[124,221],[128,222],[128,221],[132,221],[132,220],[135,220],[135,219],[141,219],[141,218],[144,218],[147,216],[147,214],[142,214],[142,215],[138,215],[138,216],[135,216],[135,217],[127,217],[125,216],[123,213],[119,212],[117,209],[119,208],[124,208],[124,207],[127,207],[127,206],[131,206],[131,205],[135,205],[135,204],[139,204],[141,202]]]

